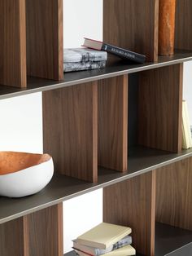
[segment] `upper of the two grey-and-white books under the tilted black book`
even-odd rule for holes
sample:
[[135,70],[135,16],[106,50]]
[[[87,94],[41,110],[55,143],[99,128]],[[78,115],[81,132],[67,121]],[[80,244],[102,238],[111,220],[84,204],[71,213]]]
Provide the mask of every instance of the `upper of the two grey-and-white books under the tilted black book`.
[[87,48],[66,48],[64,49],[64,63],[106,61],[106,51],[96,51]]

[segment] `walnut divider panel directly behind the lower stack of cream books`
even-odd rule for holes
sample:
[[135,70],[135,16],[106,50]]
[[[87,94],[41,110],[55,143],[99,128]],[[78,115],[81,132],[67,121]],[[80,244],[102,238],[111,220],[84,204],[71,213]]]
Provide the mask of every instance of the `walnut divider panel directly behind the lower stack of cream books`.
[[104,188],[103,218],[131,227],[137,252],[154,255],[155,171]]

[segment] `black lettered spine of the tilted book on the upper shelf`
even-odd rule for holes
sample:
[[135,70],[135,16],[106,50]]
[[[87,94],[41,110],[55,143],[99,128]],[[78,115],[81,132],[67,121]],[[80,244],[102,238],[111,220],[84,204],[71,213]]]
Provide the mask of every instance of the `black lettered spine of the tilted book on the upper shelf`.
[[123,58],[126,60],[133,60],[141,64],[143,64],[146,61],[145,55],[140,55],[140,54],[137,54],[136,52],[128,51],[117,46],[111,46],[107,43],[103,43],[102,51],[107,51],[108,53],[117,55],[120,58]]

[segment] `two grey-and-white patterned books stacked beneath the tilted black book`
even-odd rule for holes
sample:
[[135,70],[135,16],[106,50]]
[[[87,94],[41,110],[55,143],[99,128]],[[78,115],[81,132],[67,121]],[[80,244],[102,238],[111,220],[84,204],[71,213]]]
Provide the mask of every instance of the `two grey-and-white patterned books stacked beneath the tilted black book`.
[[64,49],[63,59],[64,72],[105,68],[107,52],[88,48],[66,48]]

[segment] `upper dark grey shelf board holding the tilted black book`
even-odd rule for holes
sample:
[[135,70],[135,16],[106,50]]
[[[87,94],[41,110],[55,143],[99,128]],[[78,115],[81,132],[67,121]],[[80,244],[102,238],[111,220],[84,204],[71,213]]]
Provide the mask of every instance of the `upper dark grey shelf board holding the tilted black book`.
[[148,69],[179,64],[189,60],[192,60],[192,51],[176,51],[175,55],[172,56],[159,56],[159,60],[155,63],[126,64],[123,61],[119,61],[116,62],[116,64],[109,65],[102,69],[65,73],[63,82],[55,82],[46,79],[28,77],[27,89],[0,86],[0,99],[7,99],[20,95],[28,95],[40,91],[54,90],[65,86],[74,86],[85,82],[93,82],[96,80],[108,77],[116,77],[128,73],[137,73]]

